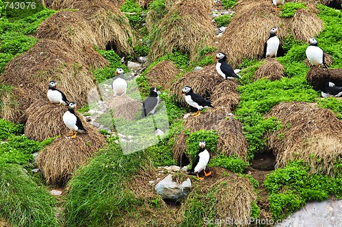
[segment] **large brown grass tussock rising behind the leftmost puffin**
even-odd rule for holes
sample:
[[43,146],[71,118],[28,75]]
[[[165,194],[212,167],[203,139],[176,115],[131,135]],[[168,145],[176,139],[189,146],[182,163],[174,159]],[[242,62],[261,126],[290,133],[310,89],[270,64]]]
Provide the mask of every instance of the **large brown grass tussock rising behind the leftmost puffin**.
[[1,75],[0,83],[15,88],[12,96],[18,103],[16,108],[4,105],[6,112],[2,113],[1,118],[11,118],[12,122],[26,119],[23,114],[31,103],[47,100],[51,80],[57,81],[58,88],[68,100],[75,101],[80,107],[86,104],[88,91],[95,87],[92,72],[75,61],[73,52],[67,46],[42,39],[29,51],[12,59]]

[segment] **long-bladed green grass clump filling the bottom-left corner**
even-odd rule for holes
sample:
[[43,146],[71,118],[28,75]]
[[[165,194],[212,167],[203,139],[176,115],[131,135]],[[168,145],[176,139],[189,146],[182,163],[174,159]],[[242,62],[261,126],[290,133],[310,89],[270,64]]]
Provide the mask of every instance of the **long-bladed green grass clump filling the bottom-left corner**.
[[56,200],[16,164],[0,161],[0,219],[10,226],[59,226]]

